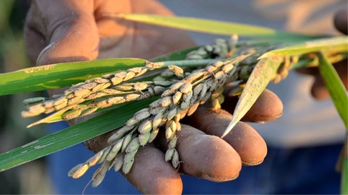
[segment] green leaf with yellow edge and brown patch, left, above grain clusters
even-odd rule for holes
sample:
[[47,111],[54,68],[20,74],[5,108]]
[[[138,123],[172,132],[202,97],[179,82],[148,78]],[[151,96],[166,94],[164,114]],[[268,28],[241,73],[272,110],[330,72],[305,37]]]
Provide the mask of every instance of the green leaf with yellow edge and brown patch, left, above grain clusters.
[[21,69],[0,74],[0,95],[62,88],[106,73],[144,66],[145,63],[143,59],[118,58]]

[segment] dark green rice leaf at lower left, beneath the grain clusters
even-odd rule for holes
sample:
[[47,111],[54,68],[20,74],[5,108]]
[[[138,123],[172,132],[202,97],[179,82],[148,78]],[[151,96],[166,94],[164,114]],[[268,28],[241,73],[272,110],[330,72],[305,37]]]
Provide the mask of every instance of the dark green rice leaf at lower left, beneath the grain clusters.
[[158,99],[158,97],[152,97],[133,102],[129,105],[124,105],[87,121],[65,128],[59,132],[37,139],[36,141],[25,144],[9,152],[2,153],[0,154],[0,172],[119,128],[123,126],[129,118],[133,117],[136,111],[148,107],[149,104],[156,99]]

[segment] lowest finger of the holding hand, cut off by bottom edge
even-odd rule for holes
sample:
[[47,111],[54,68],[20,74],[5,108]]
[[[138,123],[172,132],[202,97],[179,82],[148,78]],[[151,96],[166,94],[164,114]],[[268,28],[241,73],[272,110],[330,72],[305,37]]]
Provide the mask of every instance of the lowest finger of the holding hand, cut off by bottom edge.
[[[86,141],[94,153],[108,146],[107,140],[114,132],[106,133]],[[142,194],[180,195],[182,181],[179,172],[164,160],[164,153],[153,145],[140,147],[129,173],[123,174]]]

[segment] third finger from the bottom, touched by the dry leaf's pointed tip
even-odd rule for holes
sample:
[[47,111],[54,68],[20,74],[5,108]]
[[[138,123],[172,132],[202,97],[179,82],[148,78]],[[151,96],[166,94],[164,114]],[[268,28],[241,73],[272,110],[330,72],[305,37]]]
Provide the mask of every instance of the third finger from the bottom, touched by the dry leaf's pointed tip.
[[[200,107],[190,116],[189,124],[208,135],[221,136],[231,119],[232,115],[225,110]],[[266,142],[244,122],[238,122],[223,139],[237,151],[245,165],[260,164],[267,154]]]

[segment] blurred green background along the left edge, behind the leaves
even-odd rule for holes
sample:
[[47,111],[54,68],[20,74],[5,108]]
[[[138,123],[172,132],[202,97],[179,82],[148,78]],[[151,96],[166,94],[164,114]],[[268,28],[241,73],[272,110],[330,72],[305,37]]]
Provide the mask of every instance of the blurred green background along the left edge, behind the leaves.
[[[0,73],[29,67],[25,57],[23,24],[28,0],[0,1]],[[27,129],[38,118],[23,119],[22,101],[38,93],[0,96],[0,152],[7,152],[42,137],[44,126]],[[46,174],[45,158],[0,172],[1,195],[48,195],[50,180]]]

